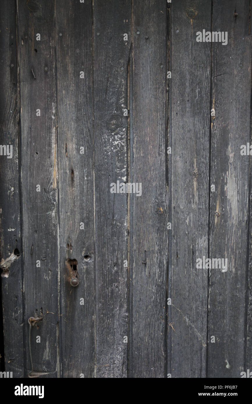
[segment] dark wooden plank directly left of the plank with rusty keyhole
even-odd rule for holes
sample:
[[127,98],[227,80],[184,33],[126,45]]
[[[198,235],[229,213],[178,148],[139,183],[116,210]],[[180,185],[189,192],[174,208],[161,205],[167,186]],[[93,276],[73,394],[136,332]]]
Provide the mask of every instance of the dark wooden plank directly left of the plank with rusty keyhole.
[[[28,318],[43,313],[32,327],[34,370],[57,377],[58,242],[57,145],[55,132],[55,44],[53,2],[17,2],[21,95],[21,183],[23,229],[23,292]],[[36,40],[40,34],[40,40]],[[40,109],[40,116],[36,110]],[[40,185],[40,192],[36,191]],[[40,267],[37,267],[40,261]],[[42,310],[42,313],[41,313]],[[41,338],[36,343],[36,336]]]

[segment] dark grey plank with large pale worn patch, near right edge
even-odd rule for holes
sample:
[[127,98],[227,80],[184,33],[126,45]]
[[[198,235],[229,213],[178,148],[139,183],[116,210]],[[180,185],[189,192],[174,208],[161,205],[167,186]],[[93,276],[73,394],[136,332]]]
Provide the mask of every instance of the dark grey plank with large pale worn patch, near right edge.
[[[237,13],[237,15],[235,15]],[[210,257],[227,258],[228,269],[210,271],[208,377],[240,377],[246,316],[251,39],[249,2],[215,2],[213,31],[228,32],[228,44],[212,44]]]

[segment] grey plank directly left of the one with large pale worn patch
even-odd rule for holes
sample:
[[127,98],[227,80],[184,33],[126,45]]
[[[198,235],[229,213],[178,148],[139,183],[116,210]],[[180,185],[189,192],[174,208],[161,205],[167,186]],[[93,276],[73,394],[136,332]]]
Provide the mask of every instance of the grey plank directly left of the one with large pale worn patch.
[[173,2],[172,10],[172,299],[168,332],[172,377],[205,377],[208,257],[211,2]]

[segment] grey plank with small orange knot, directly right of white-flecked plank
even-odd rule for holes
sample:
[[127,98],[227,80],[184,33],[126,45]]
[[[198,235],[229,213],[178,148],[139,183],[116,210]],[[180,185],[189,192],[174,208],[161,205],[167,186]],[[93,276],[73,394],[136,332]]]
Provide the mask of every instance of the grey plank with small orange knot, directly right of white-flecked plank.
[[[130,377],[164,377],[168,201],[165,181],[167,4],[133,0],[130,182]],[[146,261],[143,263],[142,261]]]

